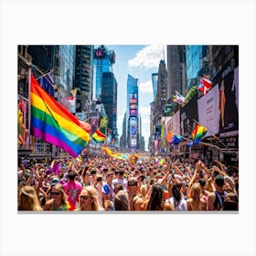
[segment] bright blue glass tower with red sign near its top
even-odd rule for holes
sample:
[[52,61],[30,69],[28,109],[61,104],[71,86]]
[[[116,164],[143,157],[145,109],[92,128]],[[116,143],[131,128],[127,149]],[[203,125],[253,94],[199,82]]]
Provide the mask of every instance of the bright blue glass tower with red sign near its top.
[[115,53],[104,46],[93,50],[93,93],[92,98],[101,101],[101,84],[104,72],[112,72],[112,64],[115,63]]

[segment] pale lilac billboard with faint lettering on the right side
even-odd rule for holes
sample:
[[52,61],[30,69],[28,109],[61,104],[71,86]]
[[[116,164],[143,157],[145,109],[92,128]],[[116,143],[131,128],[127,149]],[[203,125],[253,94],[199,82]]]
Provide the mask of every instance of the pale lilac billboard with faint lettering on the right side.
[[208,133],[206,136],[219,133],[219,84],[197,101],[198,121]]

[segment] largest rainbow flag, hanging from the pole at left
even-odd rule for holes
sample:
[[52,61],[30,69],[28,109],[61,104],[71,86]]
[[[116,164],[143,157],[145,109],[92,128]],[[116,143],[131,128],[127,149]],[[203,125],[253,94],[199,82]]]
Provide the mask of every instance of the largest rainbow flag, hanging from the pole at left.
[[79,120],[44,91],[31,75],[31,132],[77,157],[90,140]]

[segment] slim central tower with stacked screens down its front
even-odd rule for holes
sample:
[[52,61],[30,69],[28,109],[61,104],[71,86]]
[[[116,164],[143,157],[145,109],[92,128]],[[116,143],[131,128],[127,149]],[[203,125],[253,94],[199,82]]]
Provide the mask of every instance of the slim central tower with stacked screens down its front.
[[127,78],[127,144],[131,149],[139,145],[139,93],[138,79]]

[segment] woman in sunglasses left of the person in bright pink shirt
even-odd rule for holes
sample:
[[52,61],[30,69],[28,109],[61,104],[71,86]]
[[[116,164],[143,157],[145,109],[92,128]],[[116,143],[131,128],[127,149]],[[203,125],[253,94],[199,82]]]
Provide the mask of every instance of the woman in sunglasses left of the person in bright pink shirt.
[[69,210],[69,201],[60,183],[52,187],[50,195],[51,199],[46,202],[44,210]]

